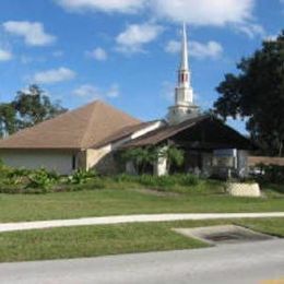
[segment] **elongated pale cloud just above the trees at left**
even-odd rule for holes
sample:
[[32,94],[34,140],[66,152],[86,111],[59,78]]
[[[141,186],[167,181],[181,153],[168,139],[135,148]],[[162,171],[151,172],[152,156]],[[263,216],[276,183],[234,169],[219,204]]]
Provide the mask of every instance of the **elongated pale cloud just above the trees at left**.
[[75,78],[75,72],[61,67],[58,69],[51,69],[43,72],[38,72],[33,76],[33,82],[39,84],[54,84],[63,81],[69,81]]

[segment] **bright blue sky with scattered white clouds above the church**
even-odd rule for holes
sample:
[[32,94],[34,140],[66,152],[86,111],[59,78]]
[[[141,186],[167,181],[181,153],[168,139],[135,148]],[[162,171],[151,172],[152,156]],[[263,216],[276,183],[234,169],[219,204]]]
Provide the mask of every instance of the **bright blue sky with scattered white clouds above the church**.
[[196,102],[206,109],[224,74],[283,20],[283,0],[1,0],[0,100],[37,83],[68,108],[100,98],[143,120],[164,117],[186,21]]

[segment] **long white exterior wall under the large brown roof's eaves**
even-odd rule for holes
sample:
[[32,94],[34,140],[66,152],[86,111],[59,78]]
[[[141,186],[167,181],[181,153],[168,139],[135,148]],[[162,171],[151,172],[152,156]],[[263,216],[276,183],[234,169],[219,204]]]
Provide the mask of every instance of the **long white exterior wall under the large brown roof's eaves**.
[[71,152],[51,150],[2,150],[0,152],[0,158],[8,166],[27,169],[44,167],[47,170],[56,170],[61,175],[69,175],[72,173],[72,157],[73,153]]

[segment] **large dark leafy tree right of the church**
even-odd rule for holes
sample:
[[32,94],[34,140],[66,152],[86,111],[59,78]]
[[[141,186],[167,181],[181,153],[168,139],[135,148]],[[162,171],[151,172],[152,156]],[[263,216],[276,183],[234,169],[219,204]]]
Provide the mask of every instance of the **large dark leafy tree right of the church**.
[[247,130],[265,154],[283,156],[284,144],[284,31],[276,40],[237,64],[216,88],[214,110],[224,119],[246,118]]

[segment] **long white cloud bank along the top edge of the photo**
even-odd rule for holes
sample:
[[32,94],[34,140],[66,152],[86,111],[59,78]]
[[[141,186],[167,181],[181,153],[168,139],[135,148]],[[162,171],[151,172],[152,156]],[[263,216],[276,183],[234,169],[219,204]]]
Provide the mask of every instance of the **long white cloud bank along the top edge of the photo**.
[[[262,35],[256,23],[256,0],[55,0],[69,10],[146,12],[151,17],[196,26],[234,26],[248,36]],[[281,0],[283,2],[283,0]]]

